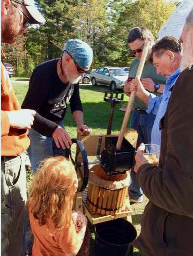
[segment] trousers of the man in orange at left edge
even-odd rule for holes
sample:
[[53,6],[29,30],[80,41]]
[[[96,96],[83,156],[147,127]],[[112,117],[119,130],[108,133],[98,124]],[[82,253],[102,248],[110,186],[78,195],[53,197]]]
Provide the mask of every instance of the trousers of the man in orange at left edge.
[[26,154],[1,158],[1,255],[24,255]]

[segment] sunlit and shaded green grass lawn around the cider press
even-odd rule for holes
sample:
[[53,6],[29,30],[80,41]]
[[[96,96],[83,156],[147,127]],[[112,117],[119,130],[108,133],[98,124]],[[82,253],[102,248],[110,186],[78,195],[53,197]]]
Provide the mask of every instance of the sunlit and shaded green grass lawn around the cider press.
[[[11,78],[12,80],[22,81],[22,78]],[[25,79],[25,80],[24,80]],[[26,81],[26,78],[23,78],[23,81]],[[12,83],[14,85],[14,90],[19,102],[22,104],[23,99],[27,93],[28,85],[26,83]],[[103,100],[104,92],[108,90],[108,87],[105,86],[93,86],[93,85],[80,85],[80,97],[84,109],[84,121],[85,123],[93,129],[92,134],[106,134],[107,132],[107,124],[110,114],[110,103],[107,103]],[[121,91],[120,91],[121,93]],[[128,101],[128,97],[124,95],[124,101]],[[116,104],[114,110],[114,119],[112,124],[112,134],[118,134],[122,120],[124,117],[123,111],[119,111],[121,107],[120,104]],[[70,107],[68,107],[65,119],[64,119],[65,129],[71,136],[71,138],[77,138],[77,130],[76,124],[73,120],[73,117],[70,112]],[[28,186],[30,184],[30,180],[32,179],[32,172],[27,170],[27,181]],[[145,199],[143,204],[134,204],[134,216],[133,216],[133,224],[137,229],[139,234],[141,229],[141,217],[143,214],[143,209],[147,203],[147,199]],[[94,256],[94,226],[89,224],[89,228],[91,231],[91,243],[90,243],[90,255]],[[134,256],[141,256],[137,249],[134,249]]]

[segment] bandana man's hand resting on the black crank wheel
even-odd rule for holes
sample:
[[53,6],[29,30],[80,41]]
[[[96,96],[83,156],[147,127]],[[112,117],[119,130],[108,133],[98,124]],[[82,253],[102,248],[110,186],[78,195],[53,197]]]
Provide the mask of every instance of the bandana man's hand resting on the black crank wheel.
[[70,148],[72,144],[71,138],[64,128],[58,126],[52,134],[57,148]]

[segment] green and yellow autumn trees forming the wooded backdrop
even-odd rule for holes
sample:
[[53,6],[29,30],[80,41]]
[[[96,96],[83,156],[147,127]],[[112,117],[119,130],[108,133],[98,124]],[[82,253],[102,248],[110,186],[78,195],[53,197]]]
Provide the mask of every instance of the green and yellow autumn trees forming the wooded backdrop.
[[174,11],[177,1],[165,0],[37,0],[45,24],[31,25],[15,45],[2,43],[16,74],[30,76],[39,63],[61,56],[63,44],[79,38],[93,48],[92,68],[129,66],[127,36],[134,26],[157,32]]

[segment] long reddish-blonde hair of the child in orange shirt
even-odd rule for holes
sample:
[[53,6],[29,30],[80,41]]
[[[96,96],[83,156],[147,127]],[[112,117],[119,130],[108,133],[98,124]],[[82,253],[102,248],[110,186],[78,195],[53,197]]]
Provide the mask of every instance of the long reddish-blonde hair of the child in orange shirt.
[[63,156],[47,158],[32,181],[27,207],[42,226],[52,220],[58,230],[68,227],[72,219],[76,193],[73,164]]

